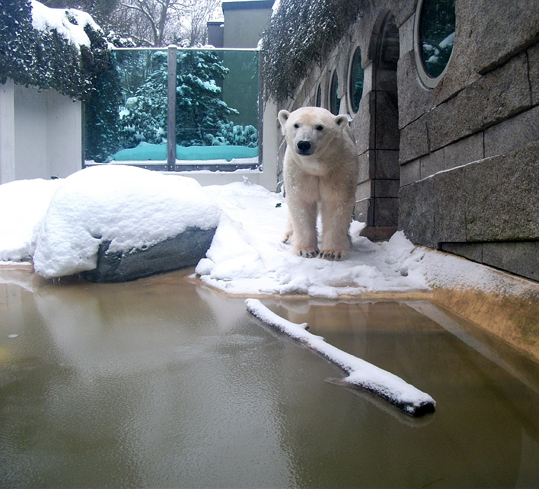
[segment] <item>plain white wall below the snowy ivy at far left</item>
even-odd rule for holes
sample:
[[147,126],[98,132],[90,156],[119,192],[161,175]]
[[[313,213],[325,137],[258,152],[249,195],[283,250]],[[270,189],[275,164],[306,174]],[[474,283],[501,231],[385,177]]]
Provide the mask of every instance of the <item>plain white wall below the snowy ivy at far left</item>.
[[0,86],[0,184],[81,168],[81,102],[11,80]]

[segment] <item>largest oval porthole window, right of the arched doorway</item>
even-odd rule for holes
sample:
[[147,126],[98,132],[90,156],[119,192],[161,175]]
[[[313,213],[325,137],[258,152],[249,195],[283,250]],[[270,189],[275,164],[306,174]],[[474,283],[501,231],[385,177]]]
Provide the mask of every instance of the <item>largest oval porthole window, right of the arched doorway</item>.
[[455,44],[455,0],[419,0],[415,12],[415,61],[419,78],[434,88]]

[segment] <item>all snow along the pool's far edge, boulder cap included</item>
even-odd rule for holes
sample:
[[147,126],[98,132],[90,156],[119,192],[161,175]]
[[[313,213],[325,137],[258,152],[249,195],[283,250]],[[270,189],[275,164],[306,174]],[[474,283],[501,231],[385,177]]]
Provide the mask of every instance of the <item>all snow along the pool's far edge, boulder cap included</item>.
[[[88,204],[89,197],[98,202]],[[388,242],[370,242],[359,235],[363,228],[359,222],[351,225],[348,260],[294,256],[290,245],[281,242],[285,199],[247,182],[200,187],[177,175],[98,166],[64,180],[1,185],[0,205],[9,209],[0,215],[0,260],[33,257],[35,268],[45,276],[95,267],[88,262],[88,253],[103,239],[115,240],[119,247],[121,243],[122,249],[140,247],[187,226],[207,229],[219,222],[196,273],[202,282],[227,294],[337,298],[475,287],[505,295],[522,294],[529,285],[468,260],[416,247],[402,232]]]

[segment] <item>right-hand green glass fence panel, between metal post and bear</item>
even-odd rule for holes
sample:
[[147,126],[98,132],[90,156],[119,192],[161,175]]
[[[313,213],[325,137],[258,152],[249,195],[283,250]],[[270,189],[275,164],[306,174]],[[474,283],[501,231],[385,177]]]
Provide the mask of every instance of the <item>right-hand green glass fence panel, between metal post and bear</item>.
[[176,77],[176,163],[257,165],[258,52],[178,50]]

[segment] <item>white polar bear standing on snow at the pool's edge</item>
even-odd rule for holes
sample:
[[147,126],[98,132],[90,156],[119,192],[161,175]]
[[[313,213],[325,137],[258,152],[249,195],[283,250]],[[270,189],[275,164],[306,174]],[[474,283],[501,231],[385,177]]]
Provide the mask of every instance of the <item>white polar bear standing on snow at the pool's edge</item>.
[[[287,148],[284,180],[289,219],[283,242],[292,253],[325,260],[348,258],[348,228],[358,178],[357,149],[346,115],[319,107],[280,111]],[[316,218],[322,218],[318,247]]]

